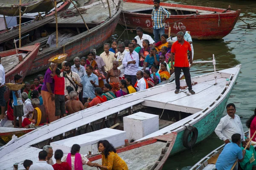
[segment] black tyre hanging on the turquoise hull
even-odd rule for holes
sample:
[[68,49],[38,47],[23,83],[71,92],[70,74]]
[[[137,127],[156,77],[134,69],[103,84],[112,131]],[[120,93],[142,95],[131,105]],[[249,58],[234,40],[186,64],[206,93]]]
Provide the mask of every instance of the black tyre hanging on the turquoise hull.
[[[192,137],[191,137],[191,133],[192,133]],[[182,144],[184,147],[191,149],[195,145],[197,138],[198,138],[198,129],[194,126],[188,126],[184,131]]]

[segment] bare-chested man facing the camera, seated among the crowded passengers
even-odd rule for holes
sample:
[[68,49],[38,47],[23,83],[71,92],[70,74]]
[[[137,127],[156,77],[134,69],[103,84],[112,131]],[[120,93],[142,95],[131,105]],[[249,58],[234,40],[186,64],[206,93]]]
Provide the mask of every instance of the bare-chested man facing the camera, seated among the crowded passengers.
[[[121,71],[117,69],[118,61],[113,61],[113,68],[108,71],[106,81],[112,86],[113,91],[119,90],[119,75]],[[109,81],[108,81],[109,79]]]

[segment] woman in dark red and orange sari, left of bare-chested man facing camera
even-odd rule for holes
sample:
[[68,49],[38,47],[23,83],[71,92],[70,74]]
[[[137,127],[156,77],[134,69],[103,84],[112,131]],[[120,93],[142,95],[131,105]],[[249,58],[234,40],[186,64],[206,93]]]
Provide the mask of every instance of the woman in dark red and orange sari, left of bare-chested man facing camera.
[[93,66],[93,74],[99,77],[99,87],[102,88],[104,86],[103,79],[106,79],[106,78],[103,74],[100,74],[97,62],[94,59],[95,56],[96,54],[93,51],[90,51],[87,55],[86,65]]

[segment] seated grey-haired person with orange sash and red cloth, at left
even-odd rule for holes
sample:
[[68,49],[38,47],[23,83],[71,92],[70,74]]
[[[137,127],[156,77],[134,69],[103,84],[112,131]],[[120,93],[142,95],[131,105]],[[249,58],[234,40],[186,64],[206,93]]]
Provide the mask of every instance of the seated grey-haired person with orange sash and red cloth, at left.
[[27,115],[27,118],[25,118],[22,122],[22,127],[28,128],[31,122],[35,124],[35,126],[41,126],[44,125],[44,123],[47,123],[46,118],[46,111],[44,105],[40,105],[40,102],[38,99],[32,99],[31,101],[32,106],[34,108],[32,119],[29,119],[29,114]]

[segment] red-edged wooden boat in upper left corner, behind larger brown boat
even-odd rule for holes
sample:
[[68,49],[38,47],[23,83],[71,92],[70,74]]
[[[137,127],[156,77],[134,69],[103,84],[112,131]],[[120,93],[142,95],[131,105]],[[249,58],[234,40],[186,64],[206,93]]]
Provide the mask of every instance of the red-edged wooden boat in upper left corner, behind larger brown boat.
[[[64,11],[66,10],[68,7],[70,6],[70,1],[66,0],[65,2],[59,3],[57,5],[57,12],[60,11]],[[25,23],[21,23],[21,35],[25,35],[26,33],[28,33],[29,31],[33,31],[36,28],[39,28],[41,26],[45,26],[47,23],[53,21],[55,19],[55,17],[53,16],[55,14],[55,9],[52,9],[49,14],[46,15],[46,17],[43,17],[42,20],[38,20],[38,13],[37,14],[27,14],[27,15],[23,15],[22,18],[26,18],[26,20],[29,20]],[[41,16],[45,16],[45,14],[41,14]],[[30,18],[30,19],[29,19]],[[23,19],[22,19],[23,20]],[[11,49],[14,48],[12,41],[13,38],[18,37],[19,36],[19,30],[18,30],[19,26],[13,26],[13,27],[9,27],[9,31],[7,32],[7,30],[3,30],[0,31],[0,44],[3,45],[3,49],[4,51],[6,50],[6,43],[8,43],[8,41],[11,41]]]

